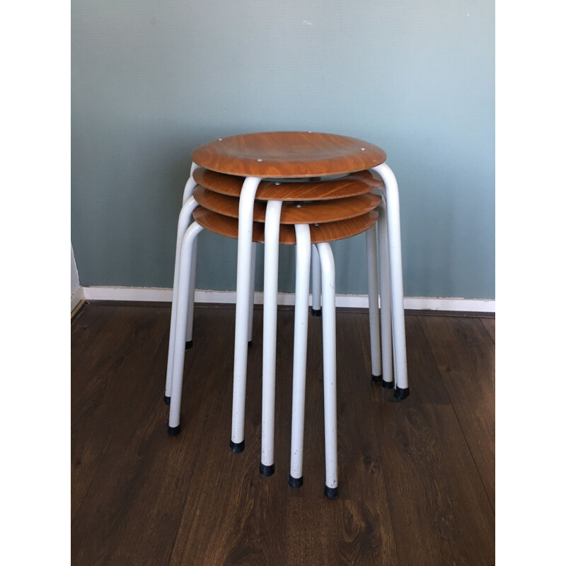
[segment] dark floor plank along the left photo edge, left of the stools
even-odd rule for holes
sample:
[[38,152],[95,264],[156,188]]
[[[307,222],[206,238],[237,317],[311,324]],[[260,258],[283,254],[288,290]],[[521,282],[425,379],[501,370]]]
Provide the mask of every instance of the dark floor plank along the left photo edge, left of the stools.
[[[91,305],[85,308],[108,310]],[[123,307],[113,320],[100,317],[101,323],[114,340],[98,333],[91,340],[91,352],[77,354],[80,359],[71,369],[71,520],[129,413],[129,400],[139,398],[135,378],[144,374],[166,336],[168,317],[162,309],[147,312]]]

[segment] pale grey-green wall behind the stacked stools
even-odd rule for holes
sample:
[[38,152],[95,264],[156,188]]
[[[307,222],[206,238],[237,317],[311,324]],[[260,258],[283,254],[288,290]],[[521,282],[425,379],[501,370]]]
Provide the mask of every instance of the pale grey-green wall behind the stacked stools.
[[[386,150],[406,296],[495,297],[493,0],[73,0],[71,33],[81,284],[171,287],[191,151],[300,129]],[[363,236],[333,249],[337,292],[366,293]],[[235,241],[199,253],[197,287],[235,289]]]

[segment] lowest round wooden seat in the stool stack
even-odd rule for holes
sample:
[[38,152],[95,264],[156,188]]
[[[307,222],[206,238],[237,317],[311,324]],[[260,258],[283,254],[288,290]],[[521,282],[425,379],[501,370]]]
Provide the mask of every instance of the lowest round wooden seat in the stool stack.
[[[228,236],[229,238],[238,238],[238,219],[231,216],[224,216],[212,210],[205,209],[201,206],[192,213],[195,221],[207,230]],[[318,226],[311,225],[311,243],[333,242],[356,236],[365,232],[377,221],[377,210],[371,210],[347,220],[339,220],[336,222],[326,222]],[[263,242],[265,224],[262,222],[253,223],[253,241]],[[282,224],[279,229],[279,243],[295,244],[295,230],[291,224]]]

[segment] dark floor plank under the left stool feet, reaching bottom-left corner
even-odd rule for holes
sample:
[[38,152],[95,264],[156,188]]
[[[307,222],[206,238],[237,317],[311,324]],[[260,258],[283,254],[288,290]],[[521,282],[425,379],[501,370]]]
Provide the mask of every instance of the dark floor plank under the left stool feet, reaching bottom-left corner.
[[[205,448],[200,432],[206,420],[214,418],[209,414],[211,391],[225,385],[221,374],[230,360],[225,355],[230,340],[222,340],[222,335],[224,325],[233,328],[233,310],[202,310],[195,308],[198,340],[185,362],[179,437],[166,432],[168,407],[163,404],[168,329],[144,371],[122,372],[137,393],[120,396],[127,416],[112,437],[75,517],[73,564],[168,564],[186,487],[195,459]],[[164,320],[170,313],[170,308],[163,308]]]

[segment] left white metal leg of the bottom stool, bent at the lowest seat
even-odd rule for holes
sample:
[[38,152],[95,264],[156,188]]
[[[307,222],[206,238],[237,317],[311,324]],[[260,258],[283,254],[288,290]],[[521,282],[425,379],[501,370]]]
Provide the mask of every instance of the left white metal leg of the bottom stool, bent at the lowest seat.
[[181,243],[179,257],[179,285],[177,316],[175,324],[175,345],[173,348],[173,376],[171,383],[171,405],[169,407],[169,432],[177,434],[180,426],[181,391],[183,390],[183,369],[185,368],[185,335],[187,333],[187,309],[189,307],[189,282],[192,265],[192,243],[202,231],[202,226],[193,222]]

